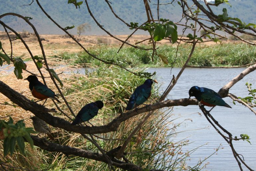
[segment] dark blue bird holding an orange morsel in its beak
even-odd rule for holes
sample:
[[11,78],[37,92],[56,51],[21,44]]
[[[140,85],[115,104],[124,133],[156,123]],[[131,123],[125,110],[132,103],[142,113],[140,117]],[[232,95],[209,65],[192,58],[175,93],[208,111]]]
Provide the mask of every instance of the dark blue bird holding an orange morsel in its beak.
[[134,107],[146,102],[151,96],[151,86],[153,82],[158,83],[156,80],[147,79],[144,84],[138,86],[131,95],[125,110],[132,110]]

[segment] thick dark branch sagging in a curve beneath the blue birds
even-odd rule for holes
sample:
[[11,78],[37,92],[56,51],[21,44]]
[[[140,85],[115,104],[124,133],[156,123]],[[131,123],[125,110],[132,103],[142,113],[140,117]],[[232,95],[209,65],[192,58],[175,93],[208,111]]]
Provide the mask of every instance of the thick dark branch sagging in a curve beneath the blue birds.
[[28,110],[36,115],[38,118],[45,121],[47,124],[63,128],[66,131],[72,131],[77,133],[85,133],[85,134],[96,134],[96,133],[107,133],[111,131],[116,131],[119,125],[128,120],[131,117],[136,115],[149,112],[152,110],[164,108],[164,107],[171,107],[171,106],[188,106],[188,105],[197,105],[198,101],[195,99],[178,99],[178,100],[166,100],[161,103],[156,103],[147,107],[142,107],[137,110],[132,110],[126,113],[122,113],[118,117],[116,117],[113,121],[108,123],[104,126],[97,126],[97,127],[83,127],[79,125],[71,126],[69,122],[66,120],[52,116],[46,107],[39,105],[35,102],[32,102],[24,95],[18,93],[17,91],[13,90],[11,87],[6,85],[4,82],[0,81],[0,92],[9,98],[13,103],[17,104],[24,110]]

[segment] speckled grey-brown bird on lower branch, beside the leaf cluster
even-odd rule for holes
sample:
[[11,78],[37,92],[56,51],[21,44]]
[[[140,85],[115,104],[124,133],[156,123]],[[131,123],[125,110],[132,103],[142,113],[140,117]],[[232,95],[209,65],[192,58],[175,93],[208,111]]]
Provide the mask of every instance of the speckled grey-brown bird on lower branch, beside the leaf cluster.
[[51,134],[51,131],[50,131],[49,127],[47,126],[47,124],[43,120],[39,119],[36,116],[33,116],[30,119],[32,119],[32,121],[33,121],[33,126],[34,126],[35,131],[37,131],[39,133],[45,133],[45,134],[48,135],[48,137],[51,140],[54,140],[54,137]]

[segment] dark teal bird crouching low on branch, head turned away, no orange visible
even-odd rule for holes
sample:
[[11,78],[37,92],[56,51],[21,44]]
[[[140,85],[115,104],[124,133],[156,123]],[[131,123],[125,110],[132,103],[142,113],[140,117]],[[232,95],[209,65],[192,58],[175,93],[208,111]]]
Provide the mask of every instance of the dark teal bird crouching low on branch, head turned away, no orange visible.
[[76,125],[85,121],[89,121],[98,114],[99,109],[103,108],[103,106],[104,104],[100,100],[85,105],[78,112],[78,114],[75,117],[75,120],[72,122],[71,125]]

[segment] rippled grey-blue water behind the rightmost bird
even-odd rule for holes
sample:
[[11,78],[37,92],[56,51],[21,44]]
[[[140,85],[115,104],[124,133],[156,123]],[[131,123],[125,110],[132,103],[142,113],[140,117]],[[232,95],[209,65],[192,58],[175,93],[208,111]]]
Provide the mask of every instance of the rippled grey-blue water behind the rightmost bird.
[[[175,76],[178,74],[181,68],[173,68],[172,75],[170,75],[171,68],[149,68],[147,72],[156,71],[156,80],[159,82],[160,90],[164,91],[169,85],[172,75]],[[167,96],[168,99],[181,99],[189,97],[189,89],[192,86],[207,87],[216,92],[226,85],[232,78],[242,72],[245,68],[218,68],[218,69],[200,69],[200,68],[187,68],[183,72],[182,76],[178,80],[177,84]],[[247,88],[245,83],[249,82],[253,84],[253,87],[256,88],[256,77],[255,73],[252,72],[245,76],[242,80],[236,83],[229,92],[235,94],[238,97],[246,97],[248,95]],[[250,143],[247,141],[239,140],[232,141],[237,153],[242,154],[245,159],[245,163],[252,169],[256,169],[256,116],[248,108],[245,108],[239,103],[234,105],[232,100],[228,97],[223,99],[227,104],[229,104],[232,109],[225,107],[215,107],[211,111],[211,115],[219,122],[219,124],[226,128],[229,132],[232,133],[233,137],[237,136],[240,138],[240,134],[246,133],[250,136]],[[210,109],[207,108],[206,109]],[[188,161],[188,166],[194,166],[198,162],[198,159],[204,159],[211,155],[219,144],[221,144],[223,149],[218,150],[216,153],[208,158],[206,161],[209,164],[204,170],[217,170],[217,171],[226,171],[226,170],[240,170],[239,166],[232,154],[231,148],[227,142],[216,132],[216,130],[210,126],[210,123],[202,115],[197,114],[199,110],[198,106],[178,106],[174,107],[173,113],[175,117],[180,115],[187,116],[182,117],[181,119],[175,120],[174,122],[182,122],[185,119],[192,119],[191,121],[185,121],[177,131],[191,130],[198,128],[205,128],[200,130],[191,130],[186,132],[181,132],[177,134],[175,141],[184,139],[190,136],[188,139],[190,142],[188,146],[183,147],[183,151],[192,150],[195,147],[206,144],[190,155],[191,160]],[[196,113],[196,114],[191,114]],[[175,118],[173,117],[173,118]],[[205,163],[205,162],[204,162]],[[245,166],[242,166],[244,170],[248,170]]]

